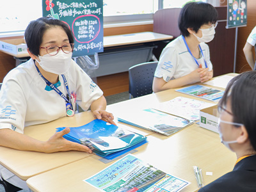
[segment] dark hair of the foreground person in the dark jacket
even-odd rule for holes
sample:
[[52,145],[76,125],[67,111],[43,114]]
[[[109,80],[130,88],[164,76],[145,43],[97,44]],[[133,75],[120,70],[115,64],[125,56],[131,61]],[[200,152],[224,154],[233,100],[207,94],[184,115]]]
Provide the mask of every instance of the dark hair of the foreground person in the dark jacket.
[[243,124],[249,140],[256,150],[256,71],[248,71],[234,77],[220,100],[226,106],[230,99],[233,122]]

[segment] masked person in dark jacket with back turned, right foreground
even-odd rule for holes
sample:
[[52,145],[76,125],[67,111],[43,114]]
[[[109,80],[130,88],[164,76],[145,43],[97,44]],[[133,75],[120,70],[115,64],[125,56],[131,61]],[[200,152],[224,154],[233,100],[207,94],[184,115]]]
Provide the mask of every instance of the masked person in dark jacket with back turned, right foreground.
[[234,169],[203,191],[256,191],[256,71],[234,77],[220,100],[221,143],[236,153]]

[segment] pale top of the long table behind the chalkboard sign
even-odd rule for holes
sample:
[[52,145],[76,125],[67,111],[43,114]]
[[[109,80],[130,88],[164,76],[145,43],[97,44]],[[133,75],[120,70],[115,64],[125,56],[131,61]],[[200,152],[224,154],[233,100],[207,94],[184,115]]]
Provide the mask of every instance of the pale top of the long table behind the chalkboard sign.
[[[103,37],[103,47],[116,47],[122,45],[132,45],[132,44],[142,44],[147,42],[156,42],[161,40],[171,40],[172,35],[164,35],[161,33],[154,32],[141,32],[141,33],[131,33],[125,35],[111,35]],[[0,50],[3,51],[3,50]],[[26,58],[29,57],[29,54],[12,54],[10,52],[3,51],[6,54],[10,54],[15,58]]]

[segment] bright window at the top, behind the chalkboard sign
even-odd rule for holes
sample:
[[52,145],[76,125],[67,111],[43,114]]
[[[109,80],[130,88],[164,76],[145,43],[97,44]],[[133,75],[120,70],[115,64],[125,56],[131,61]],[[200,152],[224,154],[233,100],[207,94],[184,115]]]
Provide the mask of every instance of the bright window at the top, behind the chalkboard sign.
[[[188,1],[103,0],[104,24],[152,20],[153,13],[158,8],[182,7]],[[45,0],[8,0],[1,2],[0,37],[23,35],[30,20],[42,17],[42,3],[45,3]]]

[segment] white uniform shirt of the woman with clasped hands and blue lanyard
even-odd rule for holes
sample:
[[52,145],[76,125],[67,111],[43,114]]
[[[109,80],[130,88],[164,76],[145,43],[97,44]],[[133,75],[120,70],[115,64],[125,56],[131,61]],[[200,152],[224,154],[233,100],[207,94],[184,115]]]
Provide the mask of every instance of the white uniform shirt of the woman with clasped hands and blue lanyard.
[[[205,61],[209,71],[212,70],[212,63],[210,61],[209,47],[205,43],[200,43],[204,57],[201,55],[197,60],[198,64],[202,64],[205,68]],[[156,68],[155,77],[163,77],[164,81],[168,82],[171,79],[178,79],[186,76],[196,70],[196,64],[193,56],[188,52],[186,44],[182,36],[177,37],[164,47],[159,62]]]

